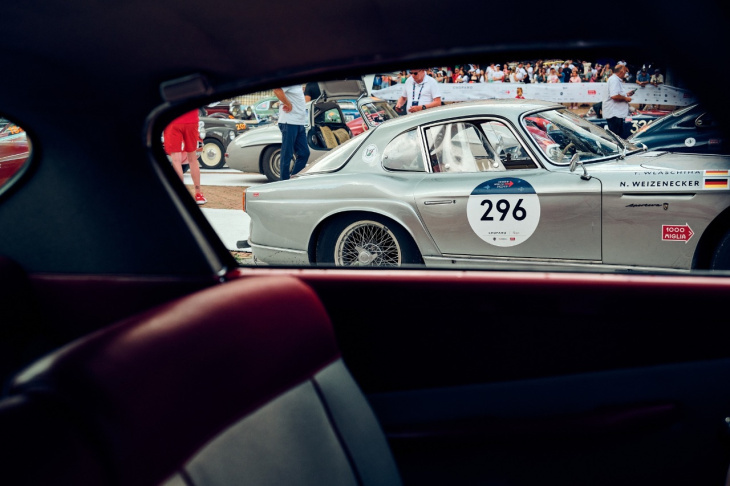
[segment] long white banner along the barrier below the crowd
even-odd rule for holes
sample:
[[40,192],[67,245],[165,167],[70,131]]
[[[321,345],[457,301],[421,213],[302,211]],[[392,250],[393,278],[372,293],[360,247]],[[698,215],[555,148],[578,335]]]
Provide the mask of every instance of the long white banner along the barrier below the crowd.
[[[608,83],[439,83],[441,100],[475,101],[495,98],[514,98],[517,88],[522,88],[526,99],[554,101],[556,103],[598,103],[608,98]],[[688,90],[660,84],[647,85],[626,83],[626,91],[636,89],[631,104],[687,106],[697,103]],[[403,94],[403,85],[393,85],[374,90],[373,96],[397,101]]]

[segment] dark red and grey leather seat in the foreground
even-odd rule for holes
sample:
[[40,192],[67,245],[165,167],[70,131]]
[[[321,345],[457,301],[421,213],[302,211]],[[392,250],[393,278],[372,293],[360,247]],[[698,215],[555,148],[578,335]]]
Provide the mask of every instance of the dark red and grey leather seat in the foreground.
[[0,457],[26,484],[400,484],[324,307],[286,276],[221,284],[54,352],[16,377],[2,424]]

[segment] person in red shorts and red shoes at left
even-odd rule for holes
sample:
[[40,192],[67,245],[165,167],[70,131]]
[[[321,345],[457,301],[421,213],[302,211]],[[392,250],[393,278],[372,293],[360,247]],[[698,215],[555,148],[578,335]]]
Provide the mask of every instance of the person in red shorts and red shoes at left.
[[184,115],[175,118],[163,133],[165,139],[165,152],[172,159],[172,167],[183,181],[182,164],[187,158],[190,165],[190,177],[193,179],[195,187],[195,202],[202,206],[208,201],[200,190],[200,165],[198,165],[198,141],[200,140],[200,130],[198,124],[200,115],[198,110],[191,110]]

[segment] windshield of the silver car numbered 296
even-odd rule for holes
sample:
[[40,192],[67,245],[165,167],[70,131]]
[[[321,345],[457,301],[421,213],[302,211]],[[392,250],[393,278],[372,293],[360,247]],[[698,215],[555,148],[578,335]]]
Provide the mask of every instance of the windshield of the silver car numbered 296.
[[542,153],[558,165],[570,164],[575,154],[582,162],[593,162],[639,150],[566,109],[535,113],[523,123]]

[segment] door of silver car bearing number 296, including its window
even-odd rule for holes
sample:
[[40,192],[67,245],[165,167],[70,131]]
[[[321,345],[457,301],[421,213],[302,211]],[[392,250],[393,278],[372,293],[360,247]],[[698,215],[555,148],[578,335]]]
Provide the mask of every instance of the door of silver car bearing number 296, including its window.
[[442,254],[600,261],[599,181],[540,167],[503,121],[435,125],[422,137],[433,172],[415,200]]

